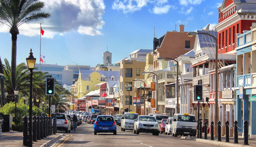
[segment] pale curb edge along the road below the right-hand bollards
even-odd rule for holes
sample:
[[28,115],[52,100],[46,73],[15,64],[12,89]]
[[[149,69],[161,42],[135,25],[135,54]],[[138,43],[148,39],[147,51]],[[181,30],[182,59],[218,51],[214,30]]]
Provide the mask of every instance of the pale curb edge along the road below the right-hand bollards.
[[195,138],[194,141],[202,142],[202,143],[209,143],[209,144],[214,144],[214,145],[221,145],[221,146],[226,146],[226,147],[252,147],[252,146],[243,145],[243,144],[235,144],[235,143],[230,143],[230,142],[225,142],[225,141],[223,142],[223,141],[200,139],[200,138]]

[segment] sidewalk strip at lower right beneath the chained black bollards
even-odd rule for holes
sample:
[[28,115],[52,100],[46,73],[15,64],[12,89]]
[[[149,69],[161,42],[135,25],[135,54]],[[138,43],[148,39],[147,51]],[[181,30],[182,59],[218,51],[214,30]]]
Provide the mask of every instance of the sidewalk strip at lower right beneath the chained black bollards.
[[242,136],[238,137],[238,143],[233,143],[234,137],[229,137],[230,142],[225,142],[226,138],[223,136],[221,137],[221,141],[217,141],[218,138],[214,138],[214,140],[211,140],[211,134],[207,134],[208,139],[204,139],[204,133],[202,134],[202,139],[197,138],[197,136],[196,137],[182,136],[181,138],[188,139],[188,140],[194,140],[194,141],[202,142],[202,143],[221,145],[221,146],[226,146],[226,147],[256,147],[256,139],[248,138],[249,145],[244,145],[244,138],[242,138]]

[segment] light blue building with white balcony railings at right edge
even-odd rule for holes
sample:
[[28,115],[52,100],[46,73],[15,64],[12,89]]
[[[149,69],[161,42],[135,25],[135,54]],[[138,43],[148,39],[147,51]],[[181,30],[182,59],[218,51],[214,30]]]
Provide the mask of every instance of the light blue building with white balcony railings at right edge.
[[[256,138],[256,24],[237,34],[236,115],[238,127],[249,122],[250,138]],[[243,132],[239,129],[240,134]]]

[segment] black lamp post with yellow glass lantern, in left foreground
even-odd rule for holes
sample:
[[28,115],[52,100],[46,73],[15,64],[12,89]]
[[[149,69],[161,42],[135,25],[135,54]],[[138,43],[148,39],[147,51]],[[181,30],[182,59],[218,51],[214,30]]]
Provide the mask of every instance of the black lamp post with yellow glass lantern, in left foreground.
[[30,90],[29,90],[29,126],[28,126],[28,130],[29,130],[29,141],[28,141],[28,146],[32,147],[32,76],[33,76],[33,69],[35,67],[35,63],[36,63],[36,58],[34,58],[33,53],[32,53],[32,49],[30,49],[30,53],[28,58],[26,58],[27,60],[27,65],[28,65],[28,69],[30,70]]

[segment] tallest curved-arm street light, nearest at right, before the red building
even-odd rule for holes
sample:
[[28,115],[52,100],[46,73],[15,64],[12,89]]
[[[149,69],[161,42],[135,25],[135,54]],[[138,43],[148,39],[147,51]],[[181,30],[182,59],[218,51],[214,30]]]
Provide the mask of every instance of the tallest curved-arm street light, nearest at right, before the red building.
[[[215,121],[214,121],[214,125],[217,125],[218,123],[218,120],[219,120],[219,109],[218,109],[218,45],[217,45],[217,42],[218,42],[218,39],[211,35],[211,34],[208,34],[208,33],[197,33],[197,32],[189,32],[188,33],[188,36],[189,37],[192,37],[193,35],[197,35],[197,34],[205,34],[205,35],[209,35],[211,36],[212,38],[215,39],[215,47],[216,47],[216,59],[215,59]],[[218,128],[215,127],[215,137],[218,137],[217,133],[218,132]]]

